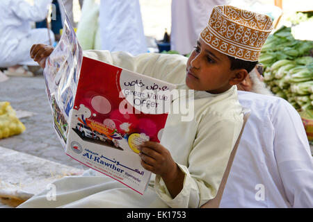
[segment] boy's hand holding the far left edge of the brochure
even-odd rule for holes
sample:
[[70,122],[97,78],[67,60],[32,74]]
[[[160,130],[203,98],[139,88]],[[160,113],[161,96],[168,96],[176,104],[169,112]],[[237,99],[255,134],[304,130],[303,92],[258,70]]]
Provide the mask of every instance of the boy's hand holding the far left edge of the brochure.
[[31,46],[31,58],[45,69],[46,59],[54,51],[54,47],[47,44],[34,44]]

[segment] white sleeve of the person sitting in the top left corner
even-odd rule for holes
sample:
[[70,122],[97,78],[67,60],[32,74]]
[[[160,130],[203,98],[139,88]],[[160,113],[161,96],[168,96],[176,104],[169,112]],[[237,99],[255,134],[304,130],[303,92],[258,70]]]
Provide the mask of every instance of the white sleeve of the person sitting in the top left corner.
[[11,1],[11,10],[17,17],[31,22],[40,22],[47,17],[47,6],[52,0],[35,0],[33,6],[25,0]]

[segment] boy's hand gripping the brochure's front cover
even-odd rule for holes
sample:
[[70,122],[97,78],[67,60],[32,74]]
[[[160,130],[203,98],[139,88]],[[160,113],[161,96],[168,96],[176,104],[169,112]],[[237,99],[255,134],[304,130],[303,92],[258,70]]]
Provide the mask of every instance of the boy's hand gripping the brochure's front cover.
[[139,146],[139,151],[143,168],[161,176],[164,181],[175,180],[177,164],[167,148],[157,142],[147,141]]

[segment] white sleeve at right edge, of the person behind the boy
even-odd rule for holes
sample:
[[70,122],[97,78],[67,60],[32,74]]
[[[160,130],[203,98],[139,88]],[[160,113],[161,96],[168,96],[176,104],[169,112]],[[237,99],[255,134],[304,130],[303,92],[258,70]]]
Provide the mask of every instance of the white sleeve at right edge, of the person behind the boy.
[[313,207],[313,161],[305,128],[298,112],[287,101],[280,103],[280,109],[273,110],[272,121],[274,152],[284,191],[291,206]]

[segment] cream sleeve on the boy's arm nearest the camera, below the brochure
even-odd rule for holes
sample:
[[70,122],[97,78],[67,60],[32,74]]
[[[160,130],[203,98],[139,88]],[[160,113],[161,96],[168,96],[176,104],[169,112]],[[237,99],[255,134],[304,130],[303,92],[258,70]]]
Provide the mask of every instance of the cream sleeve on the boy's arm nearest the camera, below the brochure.
[[[160,176],[155,188],[170,207],[201,207],[214,198],[243,123],[238,119],[204,115],[200,120],[188,166],[178,164],[185,174],[182,191],[172,198]],[[212,130],[214,129],[214,130]]]

